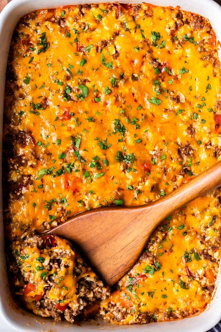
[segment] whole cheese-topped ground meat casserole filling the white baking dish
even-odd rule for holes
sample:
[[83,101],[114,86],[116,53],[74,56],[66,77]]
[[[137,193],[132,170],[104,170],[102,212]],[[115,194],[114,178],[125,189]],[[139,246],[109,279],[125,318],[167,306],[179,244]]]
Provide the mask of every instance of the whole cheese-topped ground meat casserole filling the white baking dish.
[[13,284],[31,310],[73,321],[102,299],[106,321],[131,324],[210,303],[219,189],[168,216],[110,295],[65,240],[44,247],[34,232],[92,208],[160,199],[220,160],[217,50],[209,21],[179,7],[70,5],[19,21],[5,89],[4,222],[25,280]]

